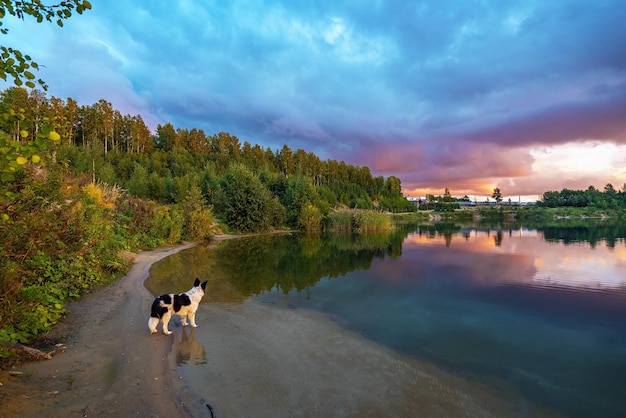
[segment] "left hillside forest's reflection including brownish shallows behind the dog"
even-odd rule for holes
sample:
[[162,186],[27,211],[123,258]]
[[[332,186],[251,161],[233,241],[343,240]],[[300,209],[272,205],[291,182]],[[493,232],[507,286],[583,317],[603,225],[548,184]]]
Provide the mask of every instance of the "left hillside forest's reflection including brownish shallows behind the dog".
[[[154,294],[209,280],[203,303],[243,301],[270,290],[306,292],[323,277],[367,270],[372,260],[398,258],[402,231],[362,236],[255,236],[199,246],[157,263],[146,287]],[[170,290],[167,290],[170,289]]]

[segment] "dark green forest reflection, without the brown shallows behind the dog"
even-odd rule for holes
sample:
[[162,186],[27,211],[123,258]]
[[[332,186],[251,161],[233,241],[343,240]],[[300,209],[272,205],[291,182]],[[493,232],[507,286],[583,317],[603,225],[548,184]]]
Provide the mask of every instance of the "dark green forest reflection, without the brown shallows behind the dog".
[[215,249],[214,274],[243,295],[279,289],[303,291],[324,277],[367,270],[375,258],[399,257],[401,232],[325,236],[257,236],[224,242]]

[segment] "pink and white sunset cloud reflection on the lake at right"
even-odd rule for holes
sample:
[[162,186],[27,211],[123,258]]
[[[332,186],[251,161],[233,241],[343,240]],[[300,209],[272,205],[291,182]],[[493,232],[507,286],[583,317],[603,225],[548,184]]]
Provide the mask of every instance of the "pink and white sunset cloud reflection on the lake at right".
[[[495,245],[496,231],[455,234],[449,247],[443,236],[412,234],[403,251],[415,252],[392,266],[385,277],[411,276],[424,280],[442,269],[474,285],[560,286],[588,289],[626,286],[626,248],[588,243],[564,245],[545,241],[536,231],[504,231]],[[390,268],[389,265],[386,266]],[[460,271],[460,273],[459,273]]]

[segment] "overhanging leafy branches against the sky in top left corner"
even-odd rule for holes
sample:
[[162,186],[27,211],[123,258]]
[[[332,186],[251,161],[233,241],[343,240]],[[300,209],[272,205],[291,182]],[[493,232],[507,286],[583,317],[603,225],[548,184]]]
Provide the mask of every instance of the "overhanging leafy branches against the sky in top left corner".
[[[59,27],[63,27],[63,20],[72,16],[72,11],[82,14],[85,10],[91,9],[91,4],[87,0],[64,0],[59,4],[45,6],[41,0],[18,1],[18,0],[0,0],[0,33],[6,35],[8,29],[3,27],[2,21],[7,13],[19,19],[30,16],[37,20],[38,23],[47,20],[52,22],[56,20]],[[7,79],[7,76],[13,79],[16,86],[25,84],[27,87],[35,88],[39,84],[44,90],[47,90],[46,83],[39,79],[35,83],[35,75],[31,69],[38,70],[39,65],[32,60],[29,55],[22,54],[21,51],[0,46],[0,78]]]

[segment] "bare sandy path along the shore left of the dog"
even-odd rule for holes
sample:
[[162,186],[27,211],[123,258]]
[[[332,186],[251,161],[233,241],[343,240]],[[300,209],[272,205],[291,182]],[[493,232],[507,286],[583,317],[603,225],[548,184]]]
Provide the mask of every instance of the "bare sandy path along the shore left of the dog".
[[193,245],[141,252],[126,276],[68,305],[54,330],[68,338],[65,353],[24,365],[21,377],[0,372],[0,416],[187,416],[174,340],[150,335],[143,281],[154,262]]

